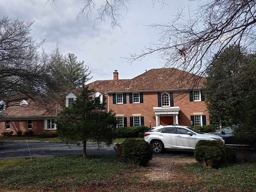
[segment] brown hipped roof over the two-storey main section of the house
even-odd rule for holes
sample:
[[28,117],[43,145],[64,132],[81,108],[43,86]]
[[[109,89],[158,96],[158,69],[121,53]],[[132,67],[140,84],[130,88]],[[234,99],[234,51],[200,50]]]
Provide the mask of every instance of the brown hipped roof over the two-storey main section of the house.
[[176,68],[150,69],[139,76],[108,89],[108,92],[189,89],[204,87],[205,81],[203,77]]

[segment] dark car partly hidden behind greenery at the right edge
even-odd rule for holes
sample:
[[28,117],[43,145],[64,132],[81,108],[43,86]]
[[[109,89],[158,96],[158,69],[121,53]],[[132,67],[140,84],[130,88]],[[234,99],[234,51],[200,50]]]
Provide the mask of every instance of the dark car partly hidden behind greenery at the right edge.
[[235,140],[234,134],[233,134],[234,127],[237,127],[239,129],[239,128],[242,128],[243,125],[227,126],[220,129],[219,131],[216,131],[210,134],[214,134],[222,137],[225,140],[225,145],[227,146],[251,146],[256,149],[256,138],[254,138],[253,143],[250,143],[250,144],[249,143],[244,144],[244,142]]

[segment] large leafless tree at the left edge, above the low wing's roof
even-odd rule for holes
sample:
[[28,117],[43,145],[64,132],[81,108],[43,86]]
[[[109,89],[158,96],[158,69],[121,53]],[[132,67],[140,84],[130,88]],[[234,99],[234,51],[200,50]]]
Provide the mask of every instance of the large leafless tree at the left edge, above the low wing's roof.
[[[50,53],[38,48],[30,36],[33,22],[0,20],[0,100],[15,103],[23,99],[50,102],[58,98],[64,88],[64,63],[58,47]],[[4,105],[1,105],[3,108]]]

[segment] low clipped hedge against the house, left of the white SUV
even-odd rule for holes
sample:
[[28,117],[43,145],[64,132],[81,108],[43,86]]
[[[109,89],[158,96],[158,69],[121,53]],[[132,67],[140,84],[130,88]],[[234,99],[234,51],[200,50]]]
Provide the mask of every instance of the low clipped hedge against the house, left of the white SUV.
[[144,136],[144,132],[147,132],[150,128],[147,126],[136,127],[119,127],[116,129],[117,138],[132,138]]

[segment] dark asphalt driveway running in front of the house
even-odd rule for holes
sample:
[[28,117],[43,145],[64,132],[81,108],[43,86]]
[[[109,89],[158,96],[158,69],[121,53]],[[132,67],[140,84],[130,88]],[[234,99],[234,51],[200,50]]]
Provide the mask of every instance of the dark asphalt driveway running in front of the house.
[[[87,155],[116,155],[114,145],[104,146],[97,149],[97,144],[86,145]],[[47,157],[57,155],[82,155],[83,145],[67,145],[66,143],[44,143],[44,142],[4,142],[0,145],[0,159],[30,158],[28,147],[32,158]],[[193,151],[184,150],[166,150],[163,154],[154,154],[154,157],[172,157],[172,158],[194,158]]]

